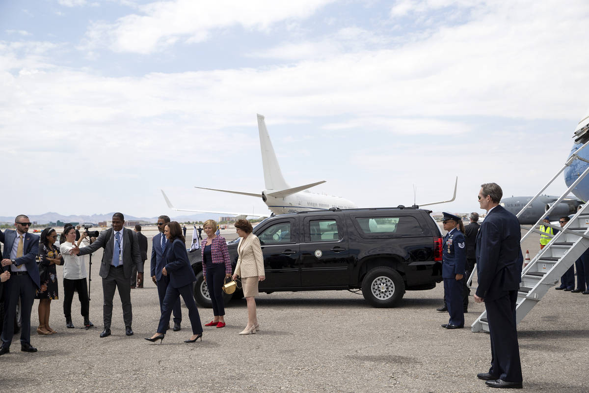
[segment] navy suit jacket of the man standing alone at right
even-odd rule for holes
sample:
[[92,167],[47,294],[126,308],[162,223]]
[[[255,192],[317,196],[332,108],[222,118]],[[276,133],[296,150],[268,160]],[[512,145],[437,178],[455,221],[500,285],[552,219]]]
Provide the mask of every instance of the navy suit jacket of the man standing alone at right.
[[494,207],[477,234],[477,296],[493,300],[519,289],[524,263],[519,240],[517,217],[500,205]]

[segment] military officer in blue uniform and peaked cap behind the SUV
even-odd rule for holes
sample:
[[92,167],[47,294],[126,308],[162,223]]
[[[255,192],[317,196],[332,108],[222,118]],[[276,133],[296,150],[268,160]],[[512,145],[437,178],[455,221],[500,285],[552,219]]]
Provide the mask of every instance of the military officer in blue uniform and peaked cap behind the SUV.
[[460,217],[445,212],[443,214],[442,224],[448,233],[444,236],[442,246],[442,278],[450,320],[442,328],[461,329],[464,328],[462,279],[466,265],[466,240],[464,233],[456,227],[462,222]]

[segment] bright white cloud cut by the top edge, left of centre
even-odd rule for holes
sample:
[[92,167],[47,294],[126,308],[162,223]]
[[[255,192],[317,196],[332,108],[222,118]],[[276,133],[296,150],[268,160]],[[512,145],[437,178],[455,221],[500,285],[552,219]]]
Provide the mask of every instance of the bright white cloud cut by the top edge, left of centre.
[[149,54],[178,40],[200,42],[214,29],[241,26],[267,31],[277,22],[306,18],[335,0],[276,2],[158,1],[140,7],[140,14],[127,15],[114,24],[95,22],[87,32],[87,47],[107,46],[115,52]]

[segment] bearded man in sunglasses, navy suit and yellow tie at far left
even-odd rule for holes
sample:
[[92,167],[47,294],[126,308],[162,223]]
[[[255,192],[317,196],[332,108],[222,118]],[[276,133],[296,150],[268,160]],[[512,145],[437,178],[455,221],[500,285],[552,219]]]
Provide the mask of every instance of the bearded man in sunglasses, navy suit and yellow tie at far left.
[[21,298],[21,351],[37,352],[37,348],[31,345],[31,309],[35,292],[39,289],[39,267],[36,262],[39,236],[28,233],[31,220],[24,214],[16,216],[14,222],[16,230],[0,232],[0,242],[4,243],[2,270],[9,270],[11,274],[4,284],[5,314],[0,355],[10,352],[18,298]]

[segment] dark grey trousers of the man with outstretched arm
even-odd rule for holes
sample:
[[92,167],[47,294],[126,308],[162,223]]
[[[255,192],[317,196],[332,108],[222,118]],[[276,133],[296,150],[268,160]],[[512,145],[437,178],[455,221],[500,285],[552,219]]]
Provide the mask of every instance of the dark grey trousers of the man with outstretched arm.
[[114,298],[115,289],[118,289],[118,296],[121,298],[121,305],[123,305],[123,321],[125,322],[125,327],[130,327],[131,322],[133,322],[130,280],[128,277],[125,278],[123,265],[119,265],[119,267],[111,266],[108,270],[107,278],[102,279],[102,295],[104,295],[102,319],[104,320],[105,329],[110,329],[112,319],[112,298]]

